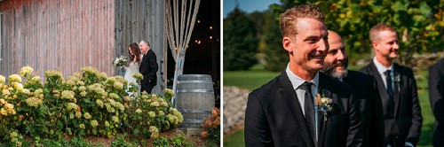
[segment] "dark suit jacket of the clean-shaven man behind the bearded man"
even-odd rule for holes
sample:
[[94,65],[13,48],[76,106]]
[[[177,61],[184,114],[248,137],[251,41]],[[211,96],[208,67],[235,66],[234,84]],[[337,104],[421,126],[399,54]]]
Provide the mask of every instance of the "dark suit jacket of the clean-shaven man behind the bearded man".
[[377,88],[381,96],[385,117],[385,143],[392,142],[389,139],[389,135],[392,134],[394,135],[393,138],[398,138],[395,139],[396,146],[403,146],[405,142],[413,143],[416,146],[421,133],[421,126],[423,125],[423,117],[417,98],[413,71],[408,67],[393,63],[393,79],[399,79],[399,81],[394,82],[395,89],[393,89],[394,118],[390,118],[387,115],[390,97],[385,89],[381,75],[377,72],[377,66],[371,62],[368,66],[362,67],[361,72],[373,75],[377,79]]

